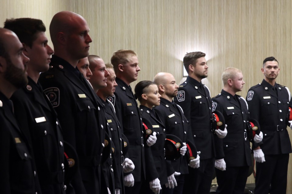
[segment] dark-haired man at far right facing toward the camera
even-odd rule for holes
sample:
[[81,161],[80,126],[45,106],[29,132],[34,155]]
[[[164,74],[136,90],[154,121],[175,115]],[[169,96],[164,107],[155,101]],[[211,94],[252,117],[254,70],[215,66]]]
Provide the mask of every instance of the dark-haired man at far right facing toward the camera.
[[[262,83],[249,89],[246,100],[250,117],[259,121],[262,142],[254,144],[256,162],[255,193],[286,193],[289,153],[292,152],[287,125],[288,106],[292,105],[287,87],[277,84],[279,63],[274,57],[263,61]],[[251,108],[250,108],[251,109]],[[291,112],[290,112],[291,114]],[[263,153],[265,154],[263,156]]]

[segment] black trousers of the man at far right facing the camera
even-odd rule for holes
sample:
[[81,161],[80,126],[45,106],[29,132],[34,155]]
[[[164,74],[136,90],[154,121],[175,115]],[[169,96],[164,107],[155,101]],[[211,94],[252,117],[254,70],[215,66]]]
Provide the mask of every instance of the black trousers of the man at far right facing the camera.
[[285,194],[289,154],[265,155],[265,160],[255,164],[255,194]]

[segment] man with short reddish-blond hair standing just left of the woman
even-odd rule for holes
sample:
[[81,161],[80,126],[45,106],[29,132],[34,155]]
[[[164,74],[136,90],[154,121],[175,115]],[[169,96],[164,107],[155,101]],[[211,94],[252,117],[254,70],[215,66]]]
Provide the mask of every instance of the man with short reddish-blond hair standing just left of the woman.
[[135,165],[132,172],[124,173],[124,184],[127,186],[125,191],[126,193],[139,193],[141,185],[145,181],[145,157],[151,155],[151,150],[144,148],[141,116],[130,87],[130,83],[137,80],[140,71],[138,57],[132,50],[118,50],[113,53],[111,63],[118,84],[112,102],[115,109],[118,110],[116,116],[122,125],[123,133],[131,145],[128,149],[128,157]]

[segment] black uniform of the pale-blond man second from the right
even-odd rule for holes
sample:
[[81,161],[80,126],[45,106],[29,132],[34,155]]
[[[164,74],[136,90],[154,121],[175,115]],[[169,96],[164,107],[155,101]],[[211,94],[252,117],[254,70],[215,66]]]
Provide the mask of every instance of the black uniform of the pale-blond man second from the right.
[[222,89],[212,98],[212,111],[223,114],[228,133],[221,139],[222,145],[216,148],[216,159],[224,158],[226,170],[215,169],[218,188],[216,193],[243,193],[252,165],[249,133],[246,122],[249,111],[245,99],[231,95]]

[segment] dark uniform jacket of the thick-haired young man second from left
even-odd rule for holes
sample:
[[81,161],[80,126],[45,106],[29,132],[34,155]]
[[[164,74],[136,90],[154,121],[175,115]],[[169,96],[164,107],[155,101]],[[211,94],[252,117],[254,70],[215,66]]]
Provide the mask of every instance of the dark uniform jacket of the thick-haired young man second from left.
[[57,114],[40,84],[28,80],[11,97],[15,117],[33,147],[42,193],[65,193],[63,135]]

